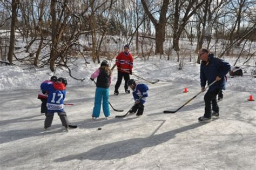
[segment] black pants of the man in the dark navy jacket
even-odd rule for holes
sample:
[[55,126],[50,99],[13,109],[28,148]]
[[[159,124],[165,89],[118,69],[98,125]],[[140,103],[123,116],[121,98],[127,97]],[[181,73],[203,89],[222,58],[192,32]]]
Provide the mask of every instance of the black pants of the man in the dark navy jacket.
[[217,103],[217,94],[219,93],[221,89],[214,89],[213,91],[210,91],[205,94],[204,100],[205,100],[205,118],[211,118],[212,110],[214,112],[219,113],[219,106]]

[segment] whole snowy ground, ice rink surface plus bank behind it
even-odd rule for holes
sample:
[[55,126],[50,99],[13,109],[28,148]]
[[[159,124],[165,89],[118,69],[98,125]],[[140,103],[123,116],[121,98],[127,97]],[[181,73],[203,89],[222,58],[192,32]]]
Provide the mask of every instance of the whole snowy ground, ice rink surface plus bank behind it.
[[[256,97],[255,78],[228,78],[224,100],[219,103],[220,118],[203,124],[197,118],[204,113],[204,94],[175,114],[163,113],[176,110],[200,91],[198,64],[185,62],[184,69],[178,70],[173,60],[157,57],[134,63],[134,74],[160,79],[157,84],[139,81],[150,89],[143,116],[114,118],[133,105],[124,84],[120,95],[113,95],[114,71],[110,103],[124,112],[111,110],[109,120],[103,113],[99,120],[91,120],[95,85],[89,76],[99,65],[73,67],[73,75],[85,80],[68,78],[65,103],[74,105],[65,110],[71,123],[78,125],[68,133],[63,132],[57,115],[51,130],[43,132],[45,116],[39,113],[37,93],[52,72],[0,66],[0,169],[256,168],[256,105],[247,101],[250,94]],[[245,69],[250,74],[252,68]],[[56,76],[68,77],[68,73],[58,69]],[[183,93],[184,87],[188,93]]]

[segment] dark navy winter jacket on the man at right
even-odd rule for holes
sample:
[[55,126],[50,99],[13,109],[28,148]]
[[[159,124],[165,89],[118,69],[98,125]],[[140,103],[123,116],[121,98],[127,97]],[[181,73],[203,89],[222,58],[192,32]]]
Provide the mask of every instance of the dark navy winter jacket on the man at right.
[[225,90],[225,75],[230,71],[230,64],[225,62],[222,59],[214,58],[213,54],[210,54],[208,57],[208,61],[202,61],[200,66],[200,80],[201,87],[205,87],[206,81],[211,84],[217,76],[221,78],[221,80],[217,81],[213,85],[209,87],[208,91],[213,91],[214,89],[223,89]]

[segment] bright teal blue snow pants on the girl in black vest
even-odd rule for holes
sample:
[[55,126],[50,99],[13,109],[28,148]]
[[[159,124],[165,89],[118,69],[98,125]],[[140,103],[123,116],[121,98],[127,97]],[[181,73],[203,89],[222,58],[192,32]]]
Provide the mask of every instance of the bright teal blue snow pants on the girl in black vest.
[[[103,99],[103,104],[102,104]],[[96,87],[95,103],[93,107],[92,117],[98,118],[100,113],[100,105],[103,106],[103,112],[105,117],[110,116],[109,110],[109,89],[102,87]]]

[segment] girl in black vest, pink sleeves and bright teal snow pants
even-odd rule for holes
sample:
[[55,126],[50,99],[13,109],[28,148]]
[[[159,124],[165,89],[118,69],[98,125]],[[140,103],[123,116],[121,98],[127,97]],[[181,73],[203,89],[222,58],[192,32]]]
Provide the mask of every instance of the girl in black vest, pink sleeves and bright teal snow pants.
[[109,69],[109,63],[106,60],[103,60],[100,64],[99,69],[97,69],[91,75],[91,80],[93,81],[97,77],[96,82],[96,92],[95,92],[95,103],[92,112],[92,119],[96,120],[99,117],[100,105],[103,100],[103,112],[105,117],[110,116],[109,110],[109,86],[112,79],[112,71]]

